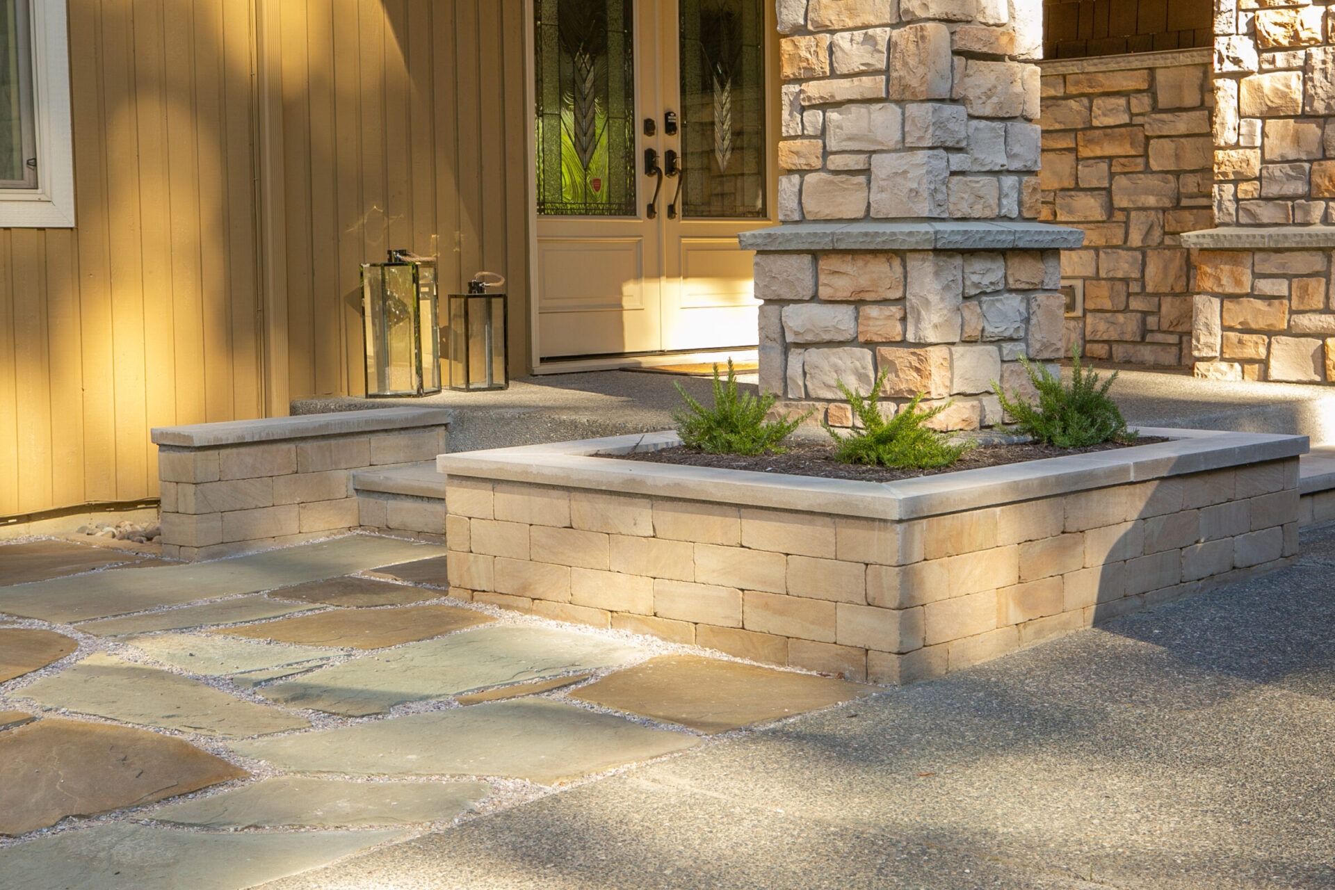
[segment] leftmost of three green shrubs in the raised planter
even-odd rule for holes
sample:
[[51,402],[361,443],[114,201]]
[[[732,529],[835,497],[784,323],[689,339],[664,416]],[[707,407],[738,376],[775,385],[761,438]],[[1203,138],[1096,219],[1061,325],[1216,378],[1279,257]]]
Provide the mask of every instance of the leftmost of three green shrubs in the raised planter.
[[781,454],[780,443],[812,416],[808,411],[797,418],[785,414],[777,420],[766,420],[765,415],[774,407],[778,396],[765,392],[754,396],[737,391],[737,374],[733,360],[728,360],[728,380],[718,379],[718,366],[714,366],[714,407],[706,408],[693,399],[680,383],[674,384],[686,408],[673,414],[681,442],[689,448],[700,448],[709,454]]

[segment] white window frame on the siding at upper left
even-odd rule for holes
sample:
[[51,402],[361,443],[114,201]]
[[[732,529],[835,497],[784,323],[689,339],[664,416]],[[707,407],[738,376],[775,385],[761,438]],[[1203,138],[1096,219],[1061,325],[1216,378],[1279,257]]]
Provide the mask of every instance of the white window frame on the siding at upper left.
[[37,183],[36,188],[0,187],[0,228],[73,228],[73,131],[65,0],[19,3],[27,7],[28,13],[28,95]]

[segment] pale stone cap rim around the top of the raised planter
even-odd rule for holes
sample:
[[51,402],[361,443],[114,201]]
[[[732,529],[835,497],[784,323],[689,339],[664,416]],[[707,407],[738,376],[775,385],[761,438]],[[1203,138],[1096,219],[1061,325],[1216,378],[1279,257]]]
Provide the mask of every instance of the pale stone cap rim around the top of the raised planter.
[[1308,446],[1307,436],[1156,427],[1141,427],[1140,432],[1147,436],[1172,436],[1173,440],[892,483],[639,463],[597,456],[626,454],[637,448],[668,448],[681,443],[676,432],[442,454],[437,458],[437,468],[450,476],[487,480],[726,504],[742,503],[841,516],[920,519],[1091,488],[1280,460],[1304,454]]

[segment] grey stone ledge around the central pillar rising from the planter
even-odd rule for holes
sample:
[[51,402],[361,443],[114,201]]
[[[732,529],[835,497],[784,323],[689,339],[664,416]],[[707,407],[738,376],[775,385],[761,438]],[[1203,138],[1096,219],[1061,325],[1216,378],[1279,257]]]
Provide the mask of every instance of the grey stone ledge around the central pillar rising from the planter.
[[1084,232],[1049,223],[784,223],[737,236],[745,251],[1048,251],[1084,244]]

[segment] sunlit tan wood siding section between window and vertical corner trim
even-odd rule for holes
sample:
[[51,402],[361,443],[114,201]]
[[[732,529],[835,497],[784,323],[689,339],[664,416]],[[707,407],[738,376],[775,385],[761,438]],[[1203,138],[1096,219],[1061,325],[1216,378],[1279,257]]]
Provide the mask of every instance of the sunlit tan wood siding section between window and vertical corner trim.
[[246,0],[68,0],[76,230],[0,230],[0,516],[156,496],[260,412]]

